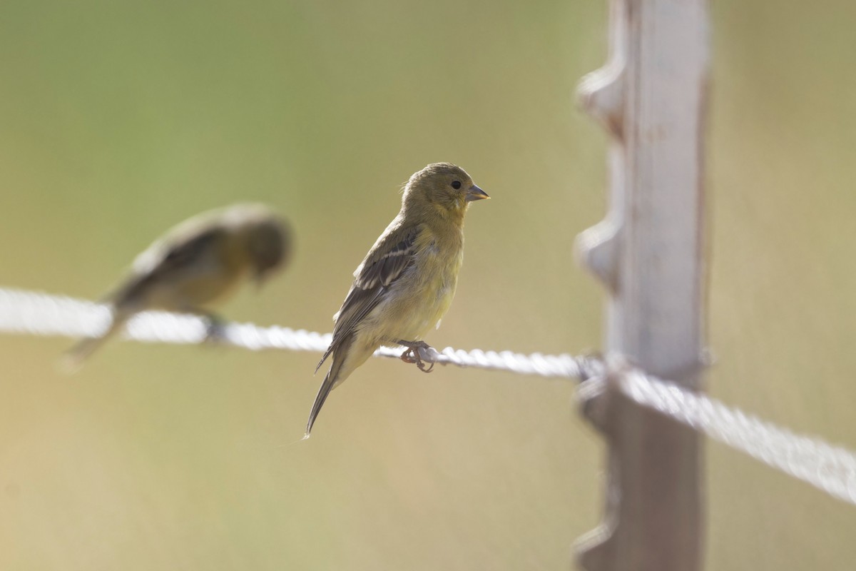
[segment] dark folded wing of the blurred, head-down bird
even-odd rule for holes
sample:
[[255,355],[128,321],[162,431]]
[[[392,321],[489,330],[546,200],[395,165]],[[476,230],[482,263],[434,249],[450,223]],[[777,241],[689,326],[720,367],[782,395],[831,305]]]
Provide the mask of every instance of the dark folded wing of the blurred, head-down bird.
[[121,306],[123,301],[137,299],[140,292],[150,284],[191,268],[197,260],[209,255],[214,243],[223,239],[224,235],[225,230],[216,226],[200,230],[196,235],[186,236],[180,241],[152,244],[134,260],[131,277],[111,296],[116,306]]

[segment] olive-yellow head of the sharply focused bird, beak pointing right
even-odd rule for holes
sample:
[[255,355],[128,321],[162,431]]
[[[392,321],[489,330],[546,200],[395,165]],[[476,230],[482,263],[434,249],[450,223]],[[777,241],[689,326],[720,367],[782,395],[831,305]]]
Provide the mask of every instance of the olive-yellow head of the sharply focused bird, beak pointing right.
[[430,205],[441,215],[463,217],[473,200],[490,196],[477,187],[467,171],[451,163],[429,164],[413,173],[404,187],[404,204]]

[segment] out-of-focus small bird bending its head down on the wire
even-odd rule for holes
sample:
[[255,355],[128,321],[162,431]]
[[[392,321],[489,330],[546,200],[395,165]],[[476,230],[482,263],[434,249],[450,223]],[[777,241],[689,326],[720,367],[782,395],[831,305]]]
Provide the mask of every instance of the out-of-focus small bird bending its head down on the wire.
[[192,217],[137,256],[124,283],[104,298],[109,328],[80,340],[63,356],[62,366],[76,371],[129,318],[146,310],[205,316],[214,336],[220,320],[205,308],[225,300],[247,277],[261,285],[290,254],[288,223],[265,205],[231,205]]

